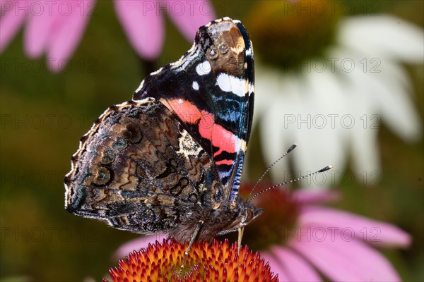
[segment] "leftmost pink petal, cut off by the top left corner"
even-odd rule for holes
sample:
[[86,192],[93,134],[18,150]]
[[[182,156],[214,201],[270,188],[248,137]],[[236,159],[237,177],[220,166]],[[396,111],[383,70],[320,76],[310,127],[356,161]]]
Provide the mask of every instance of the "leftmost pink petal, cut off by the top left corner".
[[25,19],[26,11],[19,10],[18,1],[0,1],[0,53],[6,49]]

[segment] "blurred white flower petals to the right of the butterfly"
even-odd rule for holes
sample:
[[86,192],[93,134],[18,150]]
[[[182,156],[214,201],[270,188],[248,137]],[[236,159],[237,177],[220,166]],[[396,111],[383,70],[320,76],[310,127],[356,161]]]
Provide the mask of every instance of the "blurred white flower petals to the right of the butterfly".
[[[405,142],[421,137],[412,85],[401,63],[421,64],[423,30],[393,16],[342,18],[336,44],[295,71],[257,63],[255,120],[265,161],[271,164],[290,145],[298,148],[271,170],[273,180],[293,159],[295,171],[335,168],[314,184],[350,181],[349,158],[366,183],[379,177],[377,133],[384,123]],[[326,59],[323,59],[323,58]]]

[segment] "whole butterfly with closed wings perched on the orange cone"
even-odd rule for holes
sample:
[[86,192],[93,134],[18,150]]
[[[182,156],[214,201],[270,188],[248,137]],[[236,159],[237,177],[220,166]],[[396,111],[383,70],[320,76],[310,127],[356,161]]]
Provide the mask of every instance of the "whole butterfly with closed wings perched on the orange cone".
[[189,246],[238,231],[240,246],[262,212],[239,195],[253,106],[245,27],[230,18],[199,27],[181,59],[83,135],[64,180],[66,210]]

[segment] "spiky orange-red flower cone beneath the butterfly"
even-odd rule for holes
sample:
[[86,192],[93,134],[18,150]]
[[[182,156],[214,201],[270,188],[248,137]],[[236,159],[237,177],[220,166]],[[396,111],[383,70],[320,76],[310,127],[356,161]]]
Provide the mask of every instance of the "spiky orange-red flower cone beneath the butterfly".
[[181,271],[187,245],[164,240],[131,252],[110,269],[112,281],[278,281],[259,252],[245,246],[238,255],[228,240],[194,243]]

